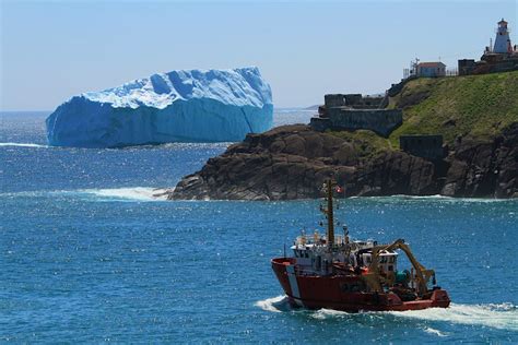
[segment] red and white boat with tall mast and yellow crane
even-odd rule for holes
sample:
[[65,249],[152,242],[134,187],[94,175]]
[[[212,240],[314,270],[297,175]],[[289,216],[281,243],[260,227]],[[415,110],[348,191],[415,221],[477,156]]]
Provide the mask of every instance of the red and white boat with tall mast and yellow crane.
[[[343,235],[334,235],[333,194],[341,188],[328,179],[322,190],[326,198],[320,211],[327,234],[303,231],[291,247],[293,255],[271,260],[291,305],[348,312],[449,306],[448,293],[437,286],[434,270],[424,267],[403,239],[387,245],[352,240],[346,226]],[[400,251],[407,254],[410,270],[398,266]]]

